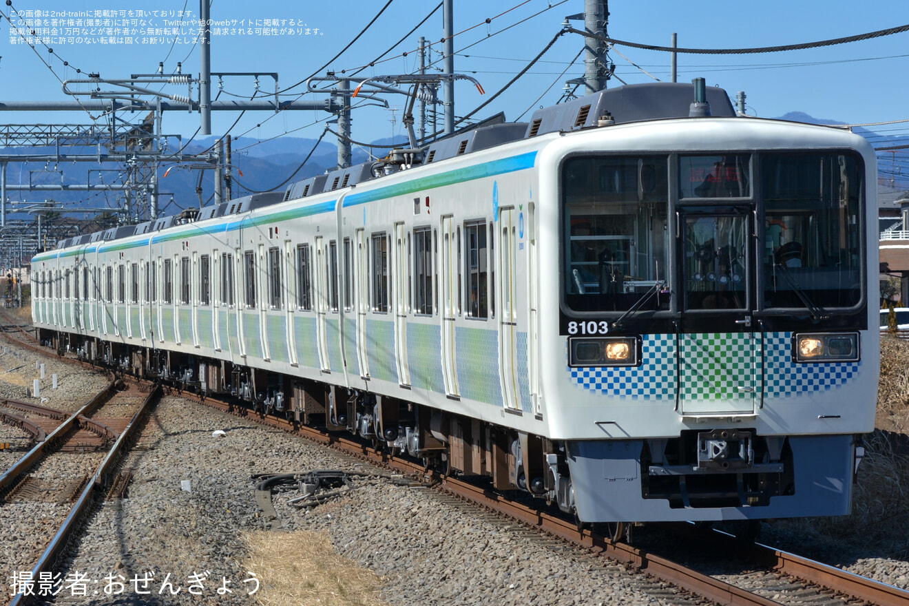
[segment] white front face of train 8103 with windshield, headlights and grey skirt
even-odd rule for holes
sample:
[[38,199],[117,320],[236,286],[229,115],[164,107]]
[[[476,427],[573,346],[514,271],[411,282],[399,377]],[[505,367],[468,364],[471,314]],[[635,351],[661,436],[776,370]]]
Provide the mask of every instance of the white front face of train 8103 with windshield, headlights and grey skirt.
[[734,117],[720,89],[691,105],[713,116],[643,119],[691,90],[574,102],[601,126],[538,159],[551,496],[585,522],[848,513],[879,369],[874,152]]

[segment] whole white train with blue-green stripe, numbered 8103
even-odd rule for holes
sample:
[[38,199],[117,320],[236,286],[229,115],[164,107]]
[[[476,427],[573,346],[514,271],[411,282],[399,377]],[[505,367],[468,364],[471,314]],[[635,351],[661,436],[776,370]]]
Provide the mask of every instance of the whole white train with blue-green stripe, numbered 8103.
[[624,86],[63,241],[34,320],[581,522],[844,514],[874,429],[876,180],[843,129]]

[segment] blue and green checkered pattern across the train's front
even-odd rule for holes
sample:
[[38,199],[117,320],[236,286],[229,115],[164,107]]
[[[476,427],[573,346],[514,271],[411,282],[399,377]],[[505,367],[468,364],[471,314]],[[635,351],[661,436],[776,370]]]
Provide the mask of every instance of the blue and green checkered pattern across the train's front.
[[[850,381],[861,362],[796,364],[792,359],[793,333],[765,333],[763,343],[752,344],[747,334],[713,333],[680,335],[684,398],[751,398],[824,392]],[[755,333],[760,339],[760,333]],[[643,337],[644,363],[629,367],[565,367],[572,381],[586,391],[633,400],[674,400],[675,335],[648,334]],[[567,348],[566,348],[567,359]],[[763,362],[762,362],[763,361]],[[762,371],[761,365],[764,364]],[[754,368],[753,368],[754,366]]]

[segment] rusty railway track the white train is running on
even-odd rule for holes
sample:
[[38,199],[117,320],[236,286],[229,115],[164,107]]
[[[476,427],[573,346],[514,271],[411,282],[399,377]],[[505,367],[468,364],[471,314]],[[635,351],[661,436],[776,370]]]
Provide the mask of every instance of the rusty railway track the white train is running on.
[[[46,352],[46,350],[44,350]],[[717,532],[697,531],[694,527],[676,525],[674,533],[682,533],[687,551],[719,554],[715,557],[727,559],[730,554],[748,564],[740,568],[746,572],[731,574],[708,574],[679,563],[680,558],[661,555],[661,548],[643,549],[620,541],[611,541],[603,533],[590,529],[579,529],[573,521],[544,512],[521,502],[514,502],[503,495],[494,494],[483,486],[462,482],[427,471],[416,462],[391,458],[377,452],[368,444],[356,442],[336,433],[299,426],[282,418],[250,414],[244,407],[229,402],[218,402],[211,398],[199,398],[184,393],[188,398],[203,402],[225,412],[253,418],[268,426],[292,432],[309,440],[331,446],[348,455],[396,472],[412,474],[427,485],[433,485],[450,498],[474,503],[490,512],[507,516],[510,520],[522,522],[527,528],[543,532],[565,541],[578,552],[594,557],[606,557],[623,562],[626,567],[641,571],[656,579],[672,584],[683,594],[693,596],[694,601],[708,600],[723,604],[853,604],[863,603],[890,606],[909,603],[909,592],[884,583],[866,579],[849,572],[840,571],[821,562],[801,558],[785,551],[774,550],[762,545],[744,545],[741,541]],[[587,557],[585,555],[584,557]]]

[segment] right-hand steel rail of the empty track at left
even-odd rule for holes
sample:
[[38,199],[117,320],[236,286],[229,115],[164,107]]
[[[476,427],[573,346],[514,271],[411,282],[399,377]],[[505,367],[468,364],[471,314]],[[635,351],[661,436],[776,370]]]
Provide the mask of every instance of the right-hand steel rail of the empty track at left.
[[[106,391],[107,390],[105,390],[105,392]],[[127,439],[132,436],[133,432],[135,432],[135,428],[139,425],[139,422],[142,420],[145,412],[150,407],[151,402],[155,400],[159,392],[160,389],[155,388],[148,393],[148,396],[145,398],[145,402],[142,402],[139,410],[135,412],[133,418],[126,425],[124,431],[120,433],[120,437],[117,438],[117,440],[114,442],[114,445],[111,446],[111,449],[107,452],[107,456],[105,456],[104,461],[98,465],[97,469],[95,470],[95,474],[85,485],[85,489],[82,491],[82,494],[79,495],[78,500],[73,504],[73,509],[70,510],[69,515],[66,516],[66,519],[61,525],[60,530],[56,531],[54,538],[51,539],[51,541],[47,544],[45,551],[41,554],[41,557],[38,558],[38,561],[35,563],[35,567],[32,569],[32,579],[39,579],[41,578],[42,572],[51,571],[51,568],[54,566],[59,556],[65,550],[66,543],[72,536],[73,531],[75,531],[76,525],[82,520],[84,514],[88,511],[88,506],[92,502],[92,497],[94,496],[95,490],[97,489],[98,491],[104,491],[106,489],[107,478],[111,467],[115,464],[115,462],[117,462],[117,457],[119,457],[122,453]],[[34,599],[35,595],[16,593],[13,597],[13,600],[9,602],[9,606],[25,606],[25,604],[31,603],[34,601]]]

